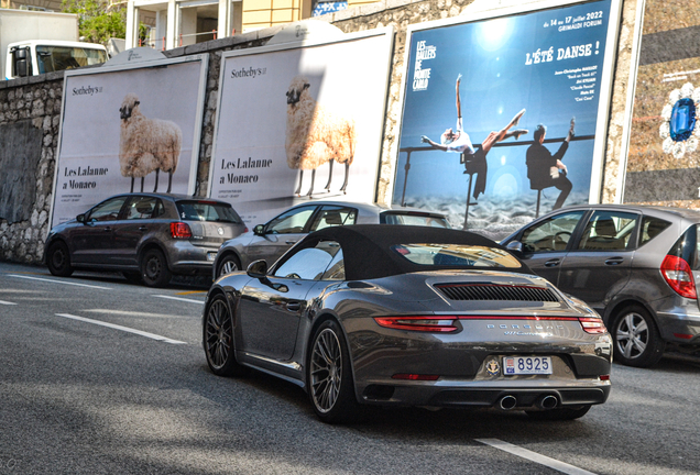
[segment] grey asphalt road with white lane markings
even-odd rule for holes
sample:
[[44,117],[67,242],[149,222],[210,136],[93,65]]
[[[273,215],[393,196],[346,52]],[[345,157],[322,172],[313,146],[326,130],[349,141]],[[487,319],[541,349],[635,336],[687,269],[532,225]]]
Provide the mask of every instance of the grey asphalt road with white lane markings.
[[0,263],[0,475],[700,473],[698,362],[615,365],[577,421],[416,408],[327,426],[294,385],[208,371],[205,295]]

